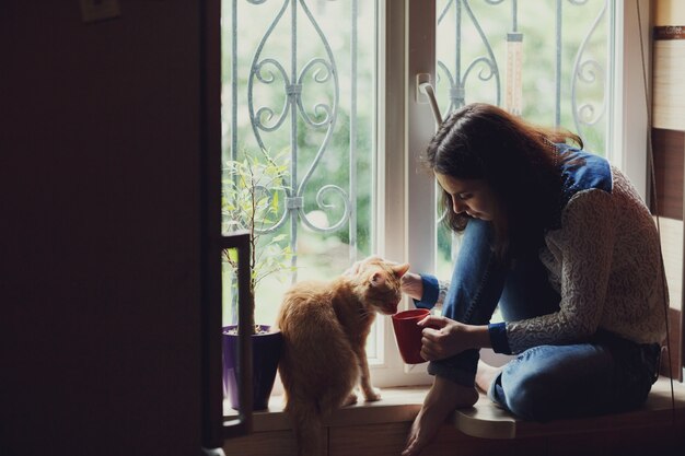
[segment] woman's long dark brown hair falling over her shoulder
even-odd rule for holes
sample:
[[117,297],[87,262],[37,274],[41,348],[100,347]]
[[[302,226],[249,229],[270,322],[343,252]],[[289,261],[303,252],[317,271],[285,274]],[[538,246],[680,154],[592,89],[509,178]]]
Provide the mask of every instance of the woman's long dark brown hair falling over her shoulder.
[[[497,198],[492,249],[510,260],[542,246],[561,204],[559,152],[554,143],[582,140],[568,130],[537,127],[506,110],[474,103],[451,114],[428,144],[423,162],[456,179],[483,179]],[[443,191],[444,223],[463,231],[466,213],[455,213]]]

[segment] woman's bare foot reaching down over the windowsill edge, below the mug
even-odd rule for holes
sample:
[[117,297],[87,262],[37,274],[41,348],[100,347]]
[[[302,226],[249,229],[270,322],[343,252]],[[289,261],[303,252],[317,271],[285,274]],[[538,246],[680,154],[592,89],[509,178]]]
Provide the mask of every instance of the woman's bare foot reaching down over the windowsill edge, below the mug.
[[402,456],[417,456],[428,445],[448,416],[455,409],[471,407],[478,400],[476,388],[462,386],[436,376],[423,406],[417,414]]

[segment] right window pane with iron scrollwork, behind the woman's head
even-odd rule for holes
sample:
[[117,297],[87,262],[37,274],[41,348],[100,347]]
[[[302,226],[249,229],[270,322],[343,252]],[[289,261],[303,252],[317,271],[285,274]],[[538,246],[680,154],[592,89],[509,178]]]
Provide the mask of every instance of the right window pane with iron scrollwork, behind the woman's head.
[[[605,154],[608,0],[437,0],[437,86],[443,117],[465,104],[499,105],[581,136]],[[440,195],[440,192],[437,192]],[[440,277],[458,238],[438,227]]]

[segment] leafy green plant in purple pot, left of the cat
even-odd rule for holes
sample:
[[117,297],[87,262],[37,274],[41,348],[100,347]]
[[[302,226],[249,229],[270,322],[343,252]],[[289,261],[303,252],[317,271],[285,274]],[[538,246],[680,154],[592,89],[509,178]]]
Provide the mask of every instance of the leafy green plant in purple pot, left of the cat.
[[[268,324],[255,324],[255,291],[265,278],[291,271],[292,250],[281,245],[285,235],[270,231],[282,217],[280,201],[287,194],[289,178],[285,152],[271,156],[267,151],[244,153],[242,160],[225,163],[222,220],[223,231],[247,230],[251,239],[249,315],[253,329],[253,408],[263,410],[274,387],[278,361],[282,350],[282,336]],[[224,250],[224,264],[229,271],[237,270],[234,250]],[[234,283],[234,281],[233,281]],[[233,293],[235,294],[235,293]],[[237,315],[234,312],[234,315]],[[235,379],[237,329],[236,325],[223,328],[223,382],[224,393],[231,406],[239,408]]]

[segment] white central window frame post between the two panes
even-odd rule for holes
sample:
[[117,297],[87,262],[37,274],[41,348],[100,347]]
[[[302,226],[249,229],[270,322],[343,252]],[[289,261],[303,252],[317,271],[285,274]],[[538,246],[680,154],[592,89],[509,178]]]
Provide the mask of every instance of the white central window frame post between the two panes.
[[[416,98],[408,94],[416,90],[411,74],[434,74],[436,5],[433,0],[381,1],[379,14],[384,24],[379,30],[379,202],[374,245],[383,257],[408,260],[414,271],[431,271],[434,262],[432,247],[417,252],[420,250],[419,243],[411,244],[409,239],[420,239],[421,246],[434,244],[431,204],[420,203],[433,200],[432,179],[416,173],[418,155],[432,136],[434,124],[428,105],[417,105]],[[425,34],[419,33],[421,30]],[[417,48],[427,51],[407,51]],[[423,112],[420,108],[425,108]],[[422,135],[416,135],[416,131],[422,131]],[[414,208],[418,208],[418,212]],[[383,235],[380,236],[380,233]],[[405,297],[400,308],[409,308],[409,301]],[[371,367],[374,384],[429,383],[426,364],[408,366],[399,358],[390,318],[379,326],[376,337],[384,350],[382,361]]]

